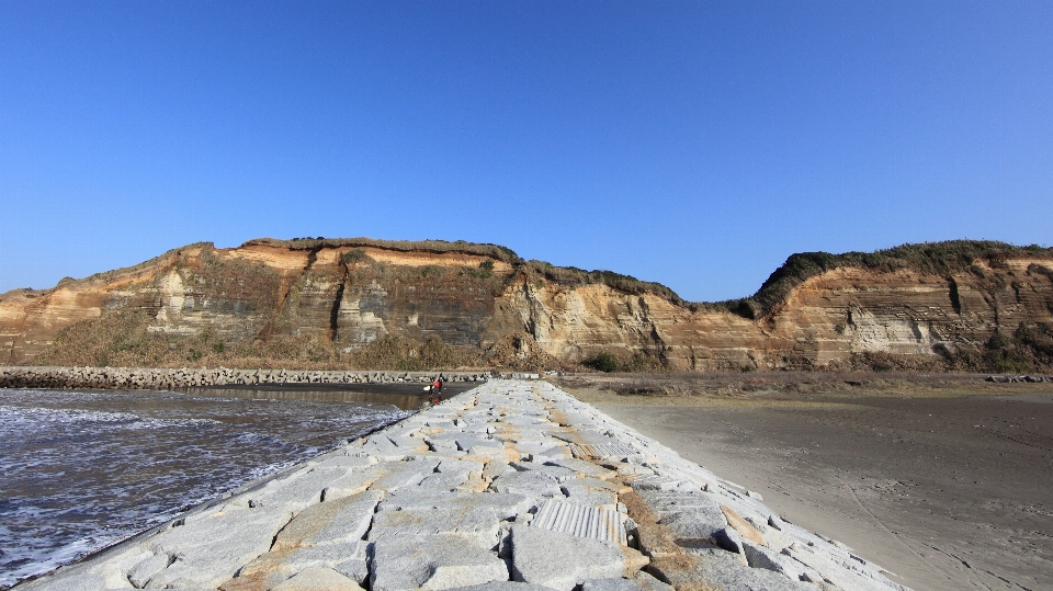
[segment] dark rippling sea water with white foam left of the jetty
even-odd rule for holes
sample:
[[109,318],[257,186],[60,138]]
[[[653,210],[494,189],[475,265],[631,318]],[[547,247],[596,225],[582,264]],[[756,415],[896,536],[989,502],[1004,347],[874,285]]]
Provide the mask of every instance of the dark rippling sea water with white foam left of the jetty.
[[400,420],[422,400],[0,389],[0,589]]

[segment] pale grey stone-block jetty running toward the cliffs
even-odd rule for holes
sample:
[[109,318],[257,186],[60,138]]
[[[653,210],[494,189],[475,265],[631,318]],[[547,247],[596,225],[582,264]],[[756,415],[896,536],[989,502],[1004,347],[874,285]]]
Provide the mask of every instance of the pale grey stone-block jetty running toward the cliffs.
[[503,379],[20,587],[131,588],[905,589],[554,386]]

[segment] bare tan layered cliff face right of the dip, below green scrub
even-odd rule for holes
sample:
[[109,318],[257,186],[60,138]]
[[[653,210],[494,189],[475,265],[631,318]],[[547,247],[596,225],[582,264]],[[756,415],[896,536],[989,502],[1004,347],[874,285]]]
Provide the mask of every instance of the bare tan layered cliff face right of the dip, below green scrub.
[[837,366],[858,353],[939,360],[1053,320],[1051,276],[1053,261],[1028,258],[975,261],[948,277],[841,268],[802,283],[759,325],[775,365]]

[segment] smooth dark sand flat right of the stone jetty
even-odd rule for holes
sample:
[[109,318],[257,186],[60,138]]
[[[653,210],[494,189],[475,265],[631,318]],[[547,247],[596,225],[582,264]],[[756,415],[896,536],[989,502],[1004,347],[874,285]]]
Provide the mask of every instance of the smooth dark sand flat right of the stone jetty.
[[578,394],[917,591],[1053,590],[1053,394]]

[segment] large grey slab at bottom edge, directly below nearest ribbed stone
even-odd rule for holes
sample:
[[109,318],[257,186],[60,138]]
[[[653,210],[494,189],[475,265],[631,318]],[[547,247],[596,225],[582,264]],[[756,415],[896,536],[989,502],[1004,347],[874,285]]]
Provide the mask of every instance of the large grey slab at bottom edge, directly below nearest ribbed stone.
[[557,591],[571,591],[589,579],[635,573],[647,564],[629,547],[531,525],[514,525],[511,535],[512,578]]

